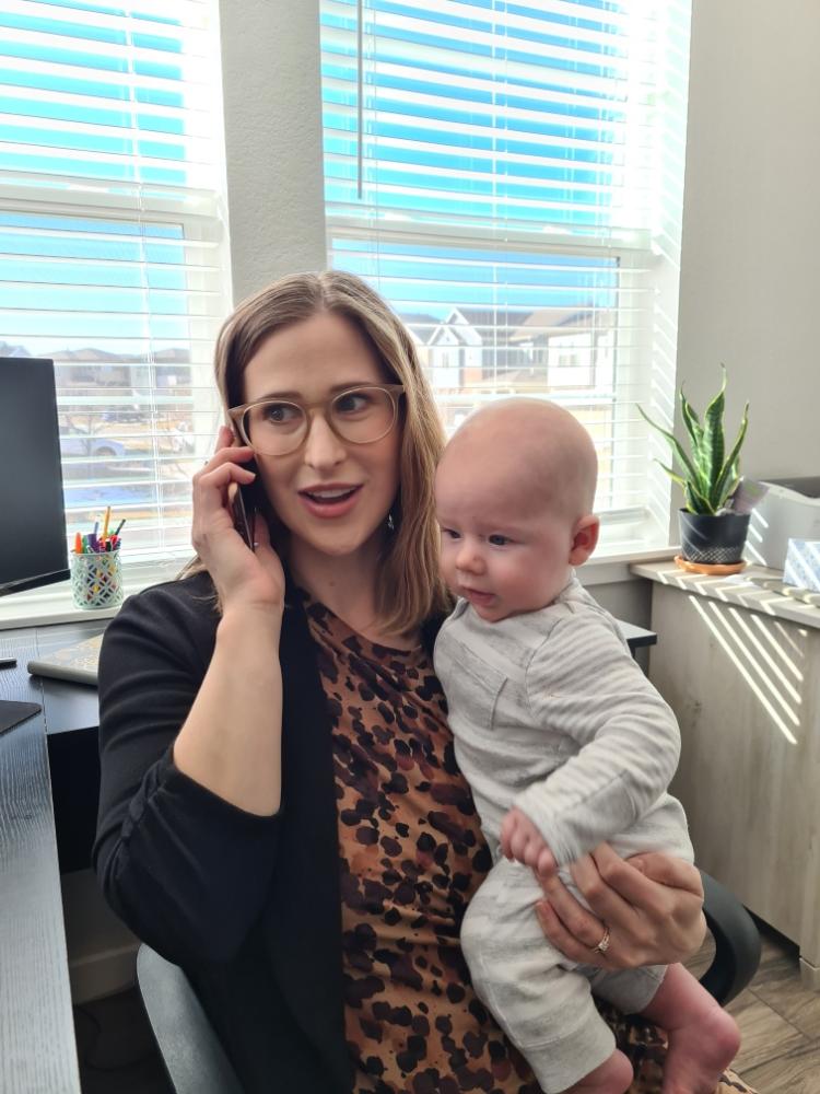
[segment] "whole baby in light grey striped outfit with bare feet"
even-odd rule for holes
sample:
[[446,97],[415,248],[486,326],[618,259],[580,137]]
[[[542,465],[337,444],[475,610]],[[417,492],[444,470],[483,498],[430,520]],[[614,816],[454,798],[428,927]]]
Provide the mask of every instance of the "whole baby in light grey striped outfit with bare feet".
[[[536,399],[475,414],[438,467],[442,568],[458,603],[435,668],[494,862],[461,943],[478,994],[548,1094],[623,1094],[632,1083],[590,992],[667,1031],[664,1094],[711,1094],[739,1036],[700,984],[681,965],[575,964],[535,913],[536,873],[559,870],[571,884],[565,868],[604,840],[624,858],[692,861],[666,789],[675,715],[573,571],[598,540],[596,476],[586,430]],[[593,948],[608,944],[607,929]]]

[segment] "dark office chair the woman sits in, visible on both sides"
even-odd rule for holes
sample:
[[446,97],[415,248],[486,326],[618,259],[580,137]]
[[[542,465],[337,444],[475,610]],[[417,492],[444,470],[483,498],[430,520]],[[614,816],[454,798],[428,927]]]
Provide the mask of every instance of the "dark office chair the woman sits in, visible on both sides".
[[[701,977],[725,1006],[754,976],[760,935],[740,901],[701,871],[703,911],[715,940],[715,956]],[[137,954],[137,982],[175,1094],[243,1094],[185,973],[150,946]]]

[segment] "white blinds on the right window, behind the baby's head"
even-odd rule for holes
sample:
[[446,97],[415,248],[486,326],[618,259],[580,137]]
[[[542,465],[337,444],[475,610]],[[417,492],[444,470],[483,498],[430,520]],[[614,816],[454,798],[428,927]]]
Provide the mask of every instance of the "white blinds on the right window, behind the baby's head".
[[321,0],[331,263],[409,326],[445,422],[591,431],[609,550],[667,542],[688,0]]

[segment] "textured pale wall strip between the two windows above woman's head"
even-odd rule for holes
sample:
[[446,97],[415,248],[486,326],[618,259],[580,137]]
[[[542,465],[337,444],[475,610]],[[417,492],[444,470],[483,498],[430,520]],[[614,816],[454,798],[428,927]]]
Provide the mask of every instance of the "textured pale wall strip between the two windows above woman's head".
[[327,265],[318,0],[220,0],[234,302]]

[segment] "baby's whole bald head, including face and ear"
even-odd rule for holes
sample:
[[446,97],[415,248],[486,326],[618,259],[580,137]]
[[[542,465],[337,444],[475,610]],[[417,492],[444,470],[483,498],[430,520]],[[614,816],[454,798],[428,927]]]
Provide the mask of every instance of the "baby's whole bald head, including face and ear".
[[554,403],[504,399],[468,418],[435,479],[453,592],[487,622],[552,604],[598,542],[596,473],[589,434]]

